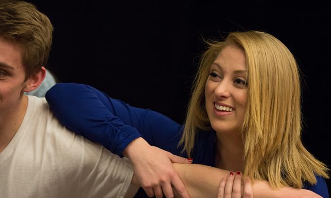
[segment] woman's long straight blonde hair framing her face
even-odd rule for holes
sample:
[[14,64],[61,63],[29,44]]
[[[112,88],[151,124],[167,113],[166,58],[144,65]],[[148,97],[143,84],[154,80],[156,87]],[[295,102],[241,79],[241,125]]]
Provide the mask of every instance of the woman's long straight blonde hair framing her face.
[[[268,180],[272,187],[301,188],[328,178],[327,167],[311,155],[301,141],[299,70],[290,50],[274,36],[258,31],[230,33],[223,42],[208,42],[195,78],[185,127],[179,145],[188,156],[199,130],[211,130],[205,106],[209,69],[227,45],[244,50],[248,71],[248,102],[241,128],[244,175]],[[203,131],[201,131],[203,133]]]

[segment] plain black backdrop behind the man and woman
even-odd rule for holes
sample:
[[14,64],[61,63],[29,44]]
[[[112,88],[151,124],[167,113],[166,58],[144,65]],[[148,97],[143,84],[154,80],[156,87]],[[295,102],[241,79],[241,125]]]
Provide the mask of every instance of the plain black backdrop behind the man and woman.
[[[261,30],[285,43],[304,75],[303,141],[330,165],[330,14],[326,5],[203,1],[30,1],[49,16],[48,68],[60,82],[92,85],[113,98],[182,123],[202,38]],[[114,1],[115,2],[115,1]],[[330,181],[328,180],[330,189]]]

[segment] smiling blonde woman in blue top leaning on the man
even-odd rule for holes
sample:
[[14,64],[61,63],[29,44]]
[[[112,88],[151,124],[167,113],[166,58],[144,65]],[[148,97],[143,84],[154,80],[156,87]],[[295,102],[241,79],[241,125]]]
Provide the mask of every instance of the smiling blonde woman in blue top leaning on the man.
[[128,157],[149,196],[171,197],[170,184],[180,188],[170,165],[180,159],[151,147],[157,146],[194,163],[240,171],[253,183],[327,197],[328,169],[301,142],[300,75],[289,49],[257,31],[230,33],[209,46],[184,125],[86,85],[56,85],[46,99],[71,130]]

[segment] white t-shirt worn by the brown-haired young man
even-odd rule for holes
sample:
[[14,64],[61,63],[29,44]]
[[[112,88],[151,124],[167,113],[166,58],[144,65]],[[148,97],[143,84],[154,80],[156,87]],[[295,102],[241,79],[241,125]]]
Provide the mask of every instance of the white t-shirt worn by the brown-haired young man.
[[132,197],[132,175],[128,159],[66,129],[35,96],[28,96],[23,122],[0,153],[1,198]]

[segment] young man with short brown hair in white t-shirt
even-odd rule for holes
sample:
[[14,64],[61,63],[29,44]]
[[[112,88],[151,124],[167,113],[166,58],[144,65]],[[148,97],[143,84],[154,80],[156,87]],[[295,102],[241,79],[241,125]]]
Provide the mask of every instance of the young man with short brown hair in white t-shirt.
[[52,32],[33,5],[0,1],[0,196],[132,197],[126,158],[67,130],[44,98],[24,95],[45,77]]

